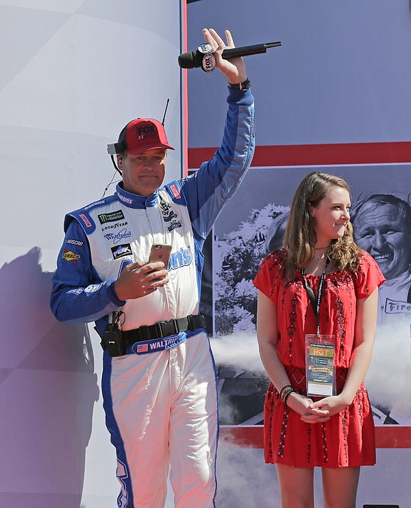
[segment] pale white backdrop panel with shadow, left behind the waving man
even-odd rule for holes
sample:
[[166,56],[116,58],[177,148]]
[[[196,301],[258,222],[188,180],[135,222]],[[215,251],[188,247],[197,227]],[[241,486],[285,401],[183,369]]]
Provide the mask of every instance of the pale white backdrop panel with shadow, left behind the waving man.
[[182,3],[0,1],[1,506],[116,504],[99,338],[55,321],[51,275],[64,213],[114,174],[107,144],[167,99],[166,178],[182,174]]

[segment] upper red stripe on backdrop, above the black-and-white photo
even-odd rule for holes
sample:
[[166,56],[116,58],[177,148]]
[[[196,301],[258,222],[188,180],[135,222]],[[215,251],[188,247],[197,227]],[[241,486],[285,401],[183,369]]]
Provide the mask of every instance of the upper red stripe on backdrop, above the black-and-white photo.
[[[188,168],[198,169],[216,148],[189,148]],[[411,162],[411,141],[257,146],[251,166],[384,164]]]

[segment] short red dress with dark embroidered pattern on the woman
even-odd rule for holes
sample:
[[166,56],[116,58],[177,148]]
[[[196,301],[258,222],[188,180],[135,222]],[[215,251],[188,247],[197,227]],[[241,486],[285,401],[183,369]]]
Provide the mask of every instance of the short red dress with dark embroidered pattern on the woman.
[[[356,273],[336,271],[324,280],[319,319],[321,334],[336,337],[337,393],[343,389],[353,352],[356,301],[371,295],[385,280],[371,255],[362,254]],[[253,284],[277,305],[277,354],[290,384],[306,394],[305,337],[316,333],[316,319],[301,272],[297,270],[294,281],[283,280],[286,256],[285,249],[266,256]],[[320,277],[306,275],[306,279],[316,294]],[[294,467],[375,464],[373,415],[364,383],[349,407],[318,424],[301,422],[270,384],[264,404],[264,454],[268,463]]]

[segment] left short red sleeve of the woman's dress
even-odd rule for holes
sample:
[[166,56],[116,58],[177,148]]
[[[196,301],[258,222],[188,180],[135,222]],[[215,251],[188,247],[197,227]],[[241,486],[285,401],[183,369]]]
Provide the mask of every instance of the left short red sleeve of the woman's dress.
[[254,286],[275,302],[277,301],[279,285],[284,273],[285,257],[286,251],[284,249],[273,251],[264,257],[256,278],[253,280]]

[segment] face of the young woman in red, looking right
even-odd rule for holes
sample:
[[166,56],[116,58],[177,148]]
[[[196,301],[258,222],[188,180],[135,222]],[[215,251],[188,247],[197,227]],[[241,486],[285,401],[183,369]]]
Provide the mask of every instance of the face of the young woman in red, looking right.
[[331,240],[343,237],[349,222],[350,208],[349,192],[336,186],[329,187],[316,207],[309,205],[316,233],[316,246],[325,246]]

